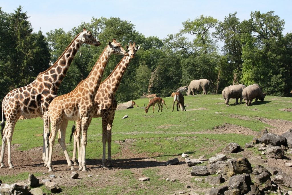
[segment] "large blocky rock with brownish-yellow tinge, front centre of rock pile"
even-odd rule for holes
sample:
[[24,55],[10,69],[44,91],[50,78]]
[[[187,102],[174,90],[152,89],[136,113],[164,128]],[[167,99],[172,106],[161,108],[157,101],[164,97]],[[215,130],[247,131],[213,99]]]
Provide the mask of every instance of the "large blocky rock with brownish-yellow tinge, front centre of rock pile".
[[225,174],[228,177],[252,172],[251,163],[249,163],[245,157],[228,159],[227,165],[228,169],[225,170]]

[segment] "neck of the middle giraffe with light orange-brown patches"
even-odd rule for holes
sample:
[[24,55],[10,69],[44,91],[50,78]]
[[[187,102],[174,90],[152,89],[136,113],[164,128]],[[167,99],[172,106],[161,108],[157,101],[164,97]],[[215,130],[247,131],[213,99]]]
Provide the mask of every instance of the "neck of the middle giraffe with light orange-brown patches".
[[107,62],[111,55],[112,52],[110,51],[110,47],[109,46],[105,47],[105,49],[100,54],[98,61],[93,66],[91,72],[83,81],[87,85],[88,91],[92,93],[94,96],[97,92],[97,89],[100,86],[102,75],[103,72],[105,71],[105,66],[107,65]]

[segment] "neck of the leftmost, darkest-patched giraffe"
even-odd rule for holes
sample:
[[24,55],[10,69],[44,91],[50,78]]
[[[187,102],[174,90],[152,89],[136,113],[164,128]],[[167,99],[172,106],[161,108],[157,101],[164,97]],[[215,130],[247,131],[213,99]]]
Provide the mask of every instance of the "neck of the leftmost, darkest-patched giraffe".
[[58,60],[46,71],[39,73],[36,79],[45,82],[54,83],[56,90],[58,90],[62,80],[64,79],[67,70],[80,46],[83,44],[80,33],[67,46],[63,54]]

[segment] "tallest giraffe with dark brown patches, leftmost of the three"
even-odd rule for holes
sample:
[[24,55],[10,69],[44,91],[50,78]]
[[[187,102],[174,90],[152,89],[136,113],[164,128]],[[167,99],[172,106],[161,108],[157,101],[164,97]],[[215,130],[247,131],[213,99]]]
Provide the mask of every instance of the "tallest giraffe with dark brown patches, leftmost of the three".
[[[48,159],[48,105],[57,96],[58,88],[66,75],[66,72],[82,44],[91,44],[99,46],[100,42],[96,40],[91,32],[85,28],[79,33],[73,41],[67,46],[63,54],[58,60],[47,70],[36,77],[36,79],[25,87],[20,87],[9,92],[2,102],[2,122],[1,137],[2,150],[0,157],[0,168],[4,165],[4,153],[6,142],[8,145],[8,165],[9,169],[13,169],[11,162],[11,140],[14,127],[20,115],[25,118],[36,118],[44,115],[44,146],[43,161],[46,165]],[[6,118],[6,126],[4,123]]]

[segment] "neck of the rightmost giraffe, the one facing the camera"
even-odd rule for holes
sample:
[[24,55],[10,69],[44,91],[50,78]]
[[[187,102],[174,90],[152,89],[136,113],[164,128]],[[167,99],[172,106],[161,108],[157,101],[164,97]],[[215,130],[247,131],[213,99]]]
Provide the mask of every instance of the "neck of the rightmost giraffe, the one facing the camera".
[[116,94],[131,59],[132,58],[130,56],[124,56],[118,65],[114,68],[112,73],[102,82],[106,83],[107,86],[110,87],[109,92],[112,92],[112,94]]

